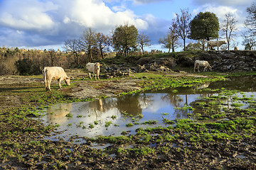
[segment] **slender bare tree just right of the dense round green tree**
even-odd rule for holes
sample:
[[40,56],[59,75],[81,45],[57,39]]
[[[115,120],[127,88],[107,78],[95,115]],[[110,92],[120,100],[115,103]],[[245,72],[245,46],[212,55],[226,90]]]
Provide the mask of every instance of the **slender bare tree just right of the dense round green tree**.
[[225,14],[224,22],[221,25],[221,30],[223,31],[225,39],[228,42],[228,50],[230,50],[230,40],[233,36],[235,36],[235,30],[238,30],[238,28],[235,26],[237,22],[238,21],[235,20],[235,16],[233,16],[231,13]]

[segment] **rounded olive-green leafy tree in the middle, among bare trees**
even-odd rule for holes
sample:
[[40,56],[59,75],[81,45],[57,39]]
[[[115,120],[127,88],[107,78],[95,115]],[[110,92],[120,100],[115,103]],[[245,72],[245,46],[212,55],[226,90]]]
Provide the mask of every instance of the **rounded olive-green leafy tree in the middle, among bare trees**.
[[130,51],[137,50],[138,30],[135,26],[119,26],[112,35],[114,50],[122,56],[128,56]]

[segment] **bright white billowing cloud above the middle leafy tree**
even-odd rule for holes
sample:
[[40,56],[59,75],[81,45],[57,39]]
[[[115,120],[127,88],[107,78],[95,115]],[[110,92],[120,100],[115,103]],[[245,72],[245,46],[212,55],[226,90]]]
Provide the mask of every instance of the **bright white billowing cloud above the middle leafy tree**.
[[[105,30],[111,30],[115,26],[122,25],[124,23],[134,24],[139,29],[145,29],[147,23],[142,19],[137,18],[132,11],[124,10],[114,13],[108,6],[105,6],[103,2],[92,0],[63,1],[61,6],[71,8],[65,8],[65,17],[69,18],[70,22],[77,23],[80,26],[90,28],[104,28]],[[66,21],[66,20],[65,20]]]

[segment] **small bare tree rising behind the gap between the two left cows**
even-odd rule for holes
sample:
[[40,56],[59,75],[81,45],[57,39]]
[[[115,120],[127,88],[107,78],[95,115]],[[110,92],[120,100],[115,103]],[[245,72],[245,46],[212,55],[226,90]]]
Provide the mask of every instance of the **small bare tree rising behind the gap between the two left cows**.
[[79,64],[79,52],[80,52],[80,46],[78,40],[67,40],[64,42],[63,48],[66,51],[70,51],[75,56],[75,64]]

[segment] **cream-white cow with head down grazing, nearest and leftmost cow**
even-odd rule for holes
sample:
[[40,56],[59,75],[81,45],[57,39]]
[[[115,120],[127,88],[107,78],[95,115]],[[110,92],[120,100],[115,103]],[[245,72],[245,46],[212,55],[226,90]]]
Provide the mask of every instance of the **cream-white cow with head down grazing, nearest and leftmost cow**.
[[44,67],[42,70],[43,79],[46,86],[46,91],[50,91],[50,83],[52,80],[58,80],[59,88],[61,88],[61,81],[65,81],[65,84],[70,86],[70,78],[61,67]]

